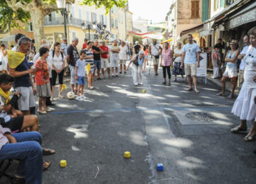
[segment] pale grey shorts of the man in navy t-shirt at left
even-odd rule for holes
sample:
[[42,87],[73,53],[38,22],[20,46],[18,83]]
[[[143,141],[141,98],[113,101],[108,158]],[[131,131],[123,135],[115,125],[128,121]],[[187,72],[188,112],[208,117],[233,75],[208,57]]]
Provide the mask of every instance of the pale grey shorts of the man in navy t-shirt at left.
[[21,93],[21,97],[18,98],[18,109],[19,110],[29,110],[29,108],[36,107],[35,98],[33,96],[32,87],[17,87],[15,91]]

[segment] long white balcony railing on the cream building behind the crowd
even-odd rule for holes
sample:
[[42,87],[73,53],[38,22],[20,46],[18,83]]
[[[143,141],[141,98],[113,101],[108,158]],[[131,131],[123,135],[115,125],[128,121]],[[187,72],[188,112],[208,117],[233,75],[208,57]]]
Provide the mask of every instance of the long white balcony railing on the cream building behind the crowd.
[[[81,26],[82,23],[92,25],[91,22],[83,21],[81,19],[73,18],[73,17],[67,18],[66,23],[67,25],[78,25],[78,26]],[[58,18],[46,17],[44,20],[44,25],[64,25],[64,18],[63,17],[58,17]]]

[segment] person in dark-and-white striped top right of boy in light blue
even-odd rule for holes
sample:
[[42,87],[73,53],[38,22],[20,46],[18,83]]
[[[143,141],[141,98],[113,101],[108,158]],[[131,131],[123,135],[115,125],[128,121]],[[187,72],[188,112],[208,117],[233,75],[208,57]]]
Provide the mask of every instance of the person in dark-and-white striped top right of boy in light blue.
[[94,60],[93,60],[93,53],[92,53],[92,42],[87,42],[87,48],[85,49],[86,57],[85,62],[86,64],[90,64],[90,71],[89,74],[87,74],[88,79],[88,88],[93,89],[95,87],[92,86],[92,76],[94,71]]

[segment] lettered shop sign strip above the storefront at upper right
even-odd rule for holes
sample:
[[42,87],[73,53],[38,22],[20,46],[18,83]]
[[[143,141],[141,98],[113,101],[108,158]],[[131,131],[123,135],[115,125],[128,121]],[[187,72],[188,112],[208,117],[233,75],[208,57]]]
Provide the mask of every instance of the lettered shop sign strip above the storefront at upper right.
[[250,23],[252,21],[256,21],[256,8],[253,8],[252,10],[231,19],[229,22],[229,28],[235,28],[239,25]]

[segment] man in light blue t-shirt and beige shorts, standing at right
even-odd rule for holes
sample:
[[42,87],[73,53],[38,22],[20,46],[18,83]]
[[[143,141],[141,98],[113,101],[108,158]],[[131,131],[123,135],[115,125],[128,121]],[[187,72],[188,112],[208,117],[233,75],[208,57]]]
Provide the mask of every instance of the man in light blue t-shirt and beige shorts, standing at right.
[[[188,43],[182,48],[182,60],[181,60],[181,68],[183,68],[185,64],[185,74],[188,78],[189,88],[186,91],[192,91],[192,83],[191,76],[193,77],[193,85],[195,88],[195,92],[199,93],[197,88],[196,81],[196,67],[200,67],[200,48],[196,43],[193,42],[193,36],[188,34]],[[197,61],[197,64],[196,64]]]

